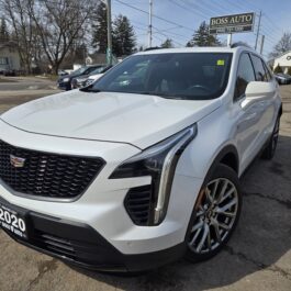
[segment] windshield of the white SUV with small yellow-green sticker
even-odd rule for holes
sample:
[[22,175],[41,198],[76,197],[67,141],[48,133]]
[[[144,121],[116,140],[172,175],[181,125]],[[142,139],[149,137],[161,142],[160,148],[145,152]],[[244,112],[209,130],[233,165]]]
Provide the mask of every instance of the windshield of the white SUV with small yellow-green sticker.
[[213,99],[225,90],[231,60],[230,53],[135,55],[112,68],[88,90]]

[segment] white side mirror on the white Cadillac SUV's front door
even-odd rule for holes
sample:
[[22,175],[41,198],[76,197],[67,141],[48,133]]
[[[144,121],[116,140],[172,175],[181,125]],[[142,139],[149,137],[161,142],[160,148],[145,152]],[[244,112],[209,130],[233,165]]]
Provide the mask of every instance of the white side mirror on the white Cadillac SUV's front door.
[[276,87],[272,82],[251,81],[246,88],[247,99],[261,99],[275,94]]

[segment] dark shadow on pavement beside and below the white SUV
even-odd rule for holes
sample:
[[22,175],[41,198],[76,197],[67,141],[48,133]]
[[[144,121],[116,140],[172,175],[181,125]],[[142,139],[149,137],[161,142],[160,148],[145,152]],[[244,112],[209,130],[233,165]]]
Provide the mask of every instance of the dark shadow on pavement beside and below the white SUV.
[[74,269],[127,291],[205,290],[242,279],[247,282],[248,275],[260,270],[279,280],[291,280],[290,257],[284,257],[291,249],[291,137],[280,136],[273,160],[254,161],[242,186],[244,204],[237,230],[227,246],[209,261],[180,260],[135,277]]

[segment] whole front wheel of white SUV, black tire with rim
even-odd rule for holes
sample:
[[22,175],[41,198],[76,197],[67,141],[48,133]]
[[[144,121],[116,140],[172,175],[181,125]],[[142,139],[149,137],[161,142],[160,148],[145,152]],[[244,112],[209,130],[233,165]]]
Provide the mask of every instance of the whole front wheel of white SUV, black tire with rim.
[[209,176],[186,235],[186,259],[193,262],[215,256],[228,242],[240,215],[242,191],[237,174],[219,164]]

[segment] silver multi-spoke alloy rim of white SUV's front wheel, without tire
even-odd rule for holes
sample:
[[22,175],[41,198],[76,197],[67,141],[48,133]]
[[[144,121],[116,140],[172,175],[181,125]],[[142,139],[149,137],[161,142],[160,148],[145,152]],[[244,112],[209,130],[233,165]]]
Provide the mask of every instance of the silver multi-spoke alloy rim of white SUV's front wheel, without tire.
[[189,248],[195,254],[206,254],[221,246],[234,226],[238,203],[232,181],[226,178],[210,181],[198,198]]

